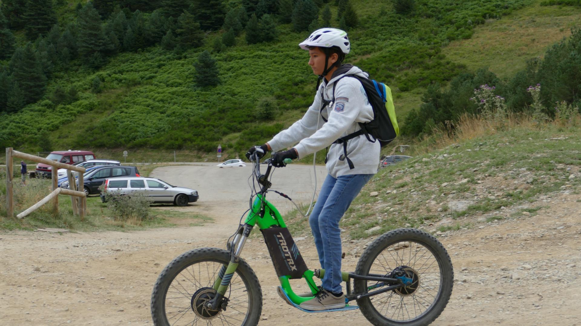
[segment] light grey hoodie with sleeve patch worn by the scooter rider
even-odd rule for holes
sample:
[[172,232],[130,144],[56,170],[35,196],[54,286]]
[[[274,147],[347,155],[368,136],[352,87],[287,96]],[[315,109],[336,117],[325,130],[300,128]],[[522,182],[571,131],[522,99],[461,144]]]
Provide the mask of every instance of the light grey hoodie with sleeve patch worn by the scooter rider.
[[[303,118],[284,131],[279,132],[268,144],[273,152],[292,146],[299,153],[299,158],[315,153],[331,145],[327,155],[327,171],[333,178],[342,175],[372,174],[379,165],[379,142],[372,143],[365,135],[347,141],[347,157],[353,162],[354,169],[349,169],[343,144],[332,144],[340,137],[360,130],[358,122],[369,122],[373,119],[373,109],[367,100],[363,85],[356,78],[343,78],[335,86],[335,103],[326,106],[321,118],[320,110],[324,100],[333,98],[333,84],[343,75],[357,75],[367,78],[368,74],[360,68],[343,65],[333,73],[329,82],[321,84],[313,104]],[[321,99],[321,90],[325,99]],[[317,124],[318,123],[318,124]]]

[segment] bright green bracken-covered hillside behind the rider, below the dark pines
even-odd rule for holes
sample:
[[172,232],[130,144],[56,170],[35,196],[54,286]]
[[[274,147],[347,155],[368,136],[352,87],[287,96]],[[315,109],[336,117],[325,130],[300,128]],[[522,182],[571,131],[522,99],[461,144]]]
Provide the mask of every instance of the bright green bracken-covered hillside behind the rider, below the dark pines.
[[[392,86],[400,120],[421,103],[426,85],[446,83],[465,66],[474,67],[444,54],[450,41],[471,38],[494,21],[505,21],[504,15],[534,5],[532,0],[417,3],[413,13],[399,15],[389,2],[379,7],[372,1],[354,2],[360,27],[349,31],[353,52],[347,62]],[[73,15],[69,9],[61,14]],[[335,6],[332,11],[334,15]],[[221,32],[210,33],[203,48],[185,53],[159,46],[121,53],[98,71],[73,62],[69,70],[56,71],[44,100],[2,116],[0,140],[29,151],[48,139],[53,148],[209,152],[220,143],[224,150],[241,153],[295,121],[311,103],[315,77],[306,52],[297,48],[308,32],[290,28],[278,26],[276,42],[246,45],[242,34],[236,46],[214,52],[222,83],[211,89],[193,85],[192,63]],[[95,77],[102,82],[101,93],[91,91]],[[80,100],[53,104],[51,93],[58,85],[76,86]],[[257,121],[256,106],[265,97],[274,97],[277,117]]]

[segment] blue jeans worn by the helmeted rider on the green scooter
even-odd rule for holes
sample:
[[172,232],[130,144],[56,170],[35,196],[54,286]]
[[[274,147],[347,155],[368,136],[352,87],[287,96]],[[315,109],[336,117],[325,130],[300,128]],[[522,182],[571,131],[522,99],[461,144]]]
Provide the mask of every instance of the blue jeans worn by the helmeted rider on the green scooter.
[[319,261],[321,267],[325,269],[323,288],[327,291],[342,292],[339,220],[372,176],[372,174],[345,175],[333,178],[327,175],[317,203],[309,216]]

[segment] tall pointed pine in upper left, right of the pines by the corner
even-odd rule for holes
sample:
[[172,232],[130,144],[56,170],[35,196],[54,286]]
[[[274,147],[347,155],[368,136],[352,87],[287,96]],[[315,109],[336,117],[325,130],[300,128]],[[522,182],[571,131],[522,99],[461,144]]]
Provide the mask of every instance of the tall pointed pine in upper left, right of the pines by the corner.
[[88,2],[78,13],[78,54],[84,63],[91,67],[99,67],[103,63],[101,52],[105,50],[106,42],[99,13],[91,2]]

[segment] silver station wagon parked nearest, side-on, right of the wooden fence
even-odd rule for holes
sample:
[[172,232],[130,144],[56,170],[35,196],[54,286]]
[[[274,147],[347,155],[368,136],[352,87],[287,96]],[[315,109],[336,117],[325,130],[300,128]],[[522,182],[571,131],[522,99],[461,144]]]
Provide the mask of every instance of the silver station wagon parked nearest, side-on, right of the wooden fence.
[[105,191],[101,192],[101,201],[105,202],[105,193],[118,191],[122,195],[140,193],[153,198],[153,202],[160,204],[174,204],[186,206],[188,202],[198,201],[198,191],[172,186],[156,178],[118,177],[105,180]]

